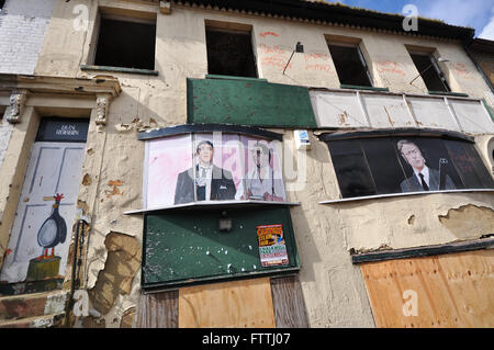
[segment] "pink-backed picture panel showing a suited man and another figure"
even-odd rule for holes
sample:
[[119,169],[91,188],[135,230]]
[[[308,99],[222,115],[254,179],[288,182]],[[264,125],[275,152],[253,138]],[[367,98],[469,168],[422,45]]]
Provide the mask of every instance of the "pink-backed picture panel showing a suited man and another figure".
[[147,208],[211,201],[287,200],[279,143],[229,133],[153,139]]

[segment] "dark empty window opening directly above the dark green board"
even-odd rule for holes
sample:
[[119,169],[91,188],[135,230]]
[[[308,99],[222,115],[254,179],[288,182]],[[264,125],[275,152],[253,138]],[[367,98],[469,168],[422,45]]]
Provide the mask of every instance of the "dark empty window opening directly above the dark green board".
[[207,72],[257,78],[250,30],[212,27],[206,24]]

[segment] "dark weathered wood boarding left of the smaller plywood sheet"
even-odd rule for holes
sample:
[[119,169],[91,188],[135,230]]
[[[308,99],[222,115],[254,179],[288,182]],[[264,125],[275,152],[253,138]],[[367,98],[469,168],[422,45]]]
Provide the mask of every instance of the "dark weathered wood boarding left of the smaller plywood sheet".
[[177,328],[178,291],[141,295],[137,328]]

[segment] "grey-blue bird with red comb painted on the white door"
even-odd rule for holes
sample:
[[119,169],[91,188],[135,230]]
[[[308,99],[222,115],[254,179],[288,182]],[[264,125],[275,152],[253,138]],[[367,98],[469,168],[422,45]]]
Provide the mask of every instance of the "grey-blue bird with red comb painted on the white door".
[[[43,223],[37,233],[37,244],[43,248],[42,255],[36,260],[53,259],[55,255],[55,246],[65,242],[67,237],[67,224],[58,213],[58,206],[64,199],[64,194],[54,195],[55,204],[53,205],[52,214]],[[52,253],[48,256],[48,249],[52,248]]]

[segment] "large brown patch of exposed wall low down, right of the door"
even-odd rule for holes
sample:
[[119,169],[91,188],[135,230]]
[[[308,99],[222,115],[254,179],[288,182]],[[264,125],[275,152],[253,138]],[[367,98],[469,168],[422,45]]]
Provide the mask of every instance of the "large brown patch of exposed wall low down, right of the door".
[[104,269],[98,274],[94,287],[89,291],[94,308],[103,315],[109,313],[119,295],[131,292],[142,256],[137,239],[122,233],[111,232],[104,246],[108,250]]

